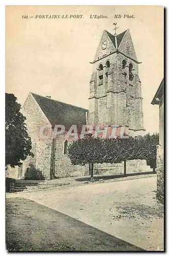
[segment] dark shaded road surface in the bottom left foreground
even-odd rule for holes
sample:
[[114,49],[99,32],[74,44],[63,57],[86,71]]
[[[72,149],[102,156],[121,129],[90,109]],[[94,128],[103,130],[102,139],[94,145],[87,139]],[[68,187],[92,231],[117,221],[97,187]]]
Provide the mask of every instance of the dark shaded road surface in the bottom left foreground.
[[60,212],[22,198],[6,201],[11,251],[139,251],[140,248]]

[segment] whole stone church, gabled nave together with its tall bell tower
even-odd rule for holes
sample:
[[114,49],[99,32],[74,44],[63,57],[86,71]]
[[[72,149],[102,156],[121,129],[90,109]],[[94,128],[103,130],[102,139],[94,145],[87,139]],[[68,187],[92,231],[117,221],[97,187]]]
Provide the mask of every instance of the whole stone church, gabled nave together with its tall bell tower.
[[[23,161],[22,177],[30,163],[42,171],[45,179],[88,174],[88,166],[73,166],[67,156],[66,131],[71,125],[115,124],[125,127],[131,136],[144,135],[139,63],[129,29],[118,35],[104,30],[90,62],[89,110],[30,92],[22,114],[27,118],[34,157]],[[55,124],[64,125],[65,133],[42,139],[38,131],[48,124],[52,129]],[[103,170],[105,165],[95,168]]]

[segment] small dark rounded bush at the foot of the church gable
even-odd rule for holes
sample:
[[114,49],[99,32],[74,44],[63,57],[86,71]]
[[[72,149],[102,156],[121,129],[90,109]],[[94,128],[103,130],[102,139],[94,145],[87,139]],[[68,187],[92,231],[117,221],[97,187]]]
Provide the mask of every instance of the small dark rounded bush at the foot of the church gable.
[[44,180],[44,176],[39,169],[30,164],[25,172],[25,180]]

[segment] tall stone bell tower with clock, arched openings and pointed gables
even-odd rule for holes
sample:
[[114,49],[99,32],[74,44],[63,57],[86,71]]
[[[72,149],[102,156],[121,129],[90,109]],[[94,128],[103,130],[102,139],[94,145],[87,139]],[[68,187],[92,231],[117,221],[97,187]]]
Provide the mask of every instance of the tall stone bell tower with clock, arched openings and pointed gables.
[[92,62],[89,124],[125,126],[131,136],[143,135],[141,81],[129,29],[104,30]]

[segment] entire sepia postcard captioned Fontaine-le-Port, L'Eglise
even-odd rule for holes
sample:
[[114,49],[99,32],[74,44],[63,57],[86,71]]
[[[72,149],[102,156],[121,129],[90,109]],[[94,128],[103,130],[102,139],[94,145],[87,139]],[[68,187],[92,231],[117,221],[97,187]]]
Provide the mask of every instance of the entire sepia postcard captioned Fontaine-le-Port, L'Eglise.
[[6,250],[164,251],[164,8],[6,6]]

